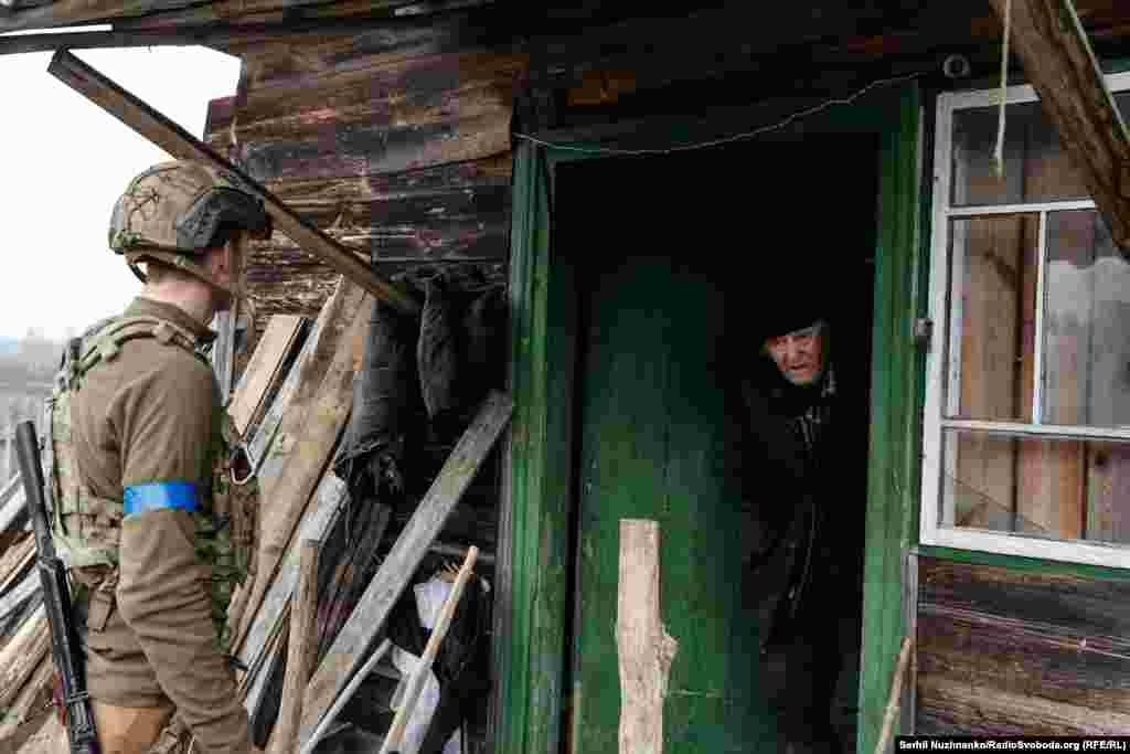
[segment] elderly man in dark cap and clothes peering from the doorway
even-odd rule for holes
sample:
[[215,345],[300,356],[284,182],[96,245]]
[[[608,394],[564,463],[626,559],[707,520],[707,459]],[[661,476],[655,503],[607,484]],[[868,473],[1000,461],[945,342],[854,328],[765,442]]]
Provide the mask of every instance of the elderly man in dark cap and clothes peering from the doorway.
[[864,495],[845,484],[860,475],[844,462],[826,301],[767,307],[741,381],[746,496],[762,532],[747,580],[762,612],[762,687],[790,754],[855,748]]

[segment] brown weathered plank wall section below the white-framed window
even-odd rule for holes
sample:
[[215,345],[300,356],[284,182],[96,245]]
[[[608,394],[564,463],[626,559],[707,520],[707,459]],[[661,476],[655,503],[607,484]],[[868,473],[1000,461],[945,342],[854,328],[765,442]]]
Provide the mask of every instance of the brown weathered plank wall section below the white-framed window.
[[922,735],[1124,735],[1130,583],[922,558]]

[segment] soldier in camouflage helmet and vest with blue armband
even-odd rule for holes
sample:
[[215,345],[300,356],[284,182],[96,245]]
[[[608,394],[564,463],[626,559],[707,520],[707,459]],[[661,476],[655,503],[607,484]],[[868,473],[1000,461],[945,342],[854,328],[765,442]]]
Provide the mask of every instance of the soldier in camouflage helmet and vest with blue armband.
[[242,292],[245,239],[269,232],[262,203],[206,165],[138,175],[110,246],[145,286],[70,344],[56,379],[54,537],[86,612],[105,754],[146,751],[174,711],[203,751],[252,751],[221,629],[250,553],[214,479],[223,409],[199,346]]

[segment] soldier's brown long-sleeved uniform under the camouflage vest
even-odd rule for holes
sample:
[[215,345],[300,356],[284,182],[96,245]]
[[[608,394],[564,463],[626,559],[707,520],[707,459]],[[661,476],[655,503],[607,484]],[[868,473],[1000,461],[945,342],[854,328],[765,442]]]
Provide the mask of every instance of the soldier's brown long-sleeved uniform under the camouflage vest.
[[[125,317],[155,315],[200,338],[208,328],[176,306],[137,298]],[[211,370],[154,338],[124,343],[86,374],[72,407],[75,453],[98,497],[153,483],[211,486],[219,392]],[[199,497],[198,497],[199,500]],[[127,708],[177,709],[209,753],[250,752],[247,716],[219,651],[192,513],[147,510],[122,520],[120,575],[108,613],[92,605],[90,696]]]

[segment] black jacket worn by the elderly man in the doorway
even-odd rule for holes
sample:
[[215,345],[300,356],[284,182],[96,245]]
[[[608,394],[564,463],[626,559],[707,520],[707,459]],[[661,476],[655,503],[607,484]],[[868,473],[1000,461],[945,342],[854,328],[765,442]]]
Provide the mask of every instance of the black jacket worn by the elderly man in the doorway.
[[763,647],[861,609],[866,459],[853,451],[866,435],[845,436],[853,423],[834,375],[798,388],[759,357],[740,382],[742,496],[756,532],[746,579],[768,622]]

